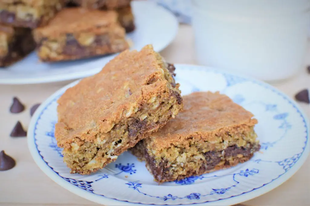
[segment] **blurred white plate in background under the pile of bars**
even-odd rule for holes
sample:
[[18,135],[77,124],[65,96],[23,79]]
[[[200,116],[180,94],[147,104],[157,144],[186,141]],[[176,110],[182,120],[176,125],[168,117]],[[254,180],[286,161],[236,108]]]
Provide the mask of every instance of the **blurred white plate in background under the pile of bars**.
[[[153,44],[159,52],[166,48],[178,32],[178,21],[168,10],[154,2],[133,1],[136,29],[127,34],[133,45],[140,50],[146,44]],[[42,63],[35,52],[23,60],[0,68],[0,84],[34,84],[78,79],[99,72],[116,54],[85,60]]]

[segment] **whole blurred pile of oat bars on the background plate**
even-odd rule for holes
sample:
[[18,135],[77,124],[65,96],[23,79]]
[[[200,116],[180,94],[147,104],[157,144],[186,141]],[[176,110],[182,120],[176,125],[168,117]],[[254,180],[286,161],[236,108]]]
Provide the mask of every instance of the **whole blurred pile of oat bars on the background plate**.
[[[0,66],[37,47],[41,61],[75,60],[129,48],[131,0],[0,1]],[[74,5],[76,8],[67,8]]]

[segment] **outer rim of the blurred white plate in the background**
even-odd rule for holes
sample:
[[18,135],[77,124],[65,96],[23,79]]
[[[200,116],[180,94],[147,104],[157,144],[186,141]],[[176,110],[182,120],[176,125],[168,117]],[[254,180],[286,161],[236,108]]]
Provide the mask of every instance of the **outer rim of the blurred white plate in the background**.
[[[176,18],[176,16],[169,11],[168,9],[157,5],[155,2],[149,2],[149,1],[136,1],[133,3],[139,3],[139,4],[149,4],[148,6],[156,6],[157,9],[164,11],[167,15],[169,15],[172,19],[174,19],[174,25],[170,26],[171,31],[173,30],[173,35],[171,35],[171,38],[169,40],[167,40],[166,44],[163,44],[162,47],[155,49],[156,52],[161,52],[162,50],[164,50],[167,46],[169,46],[173,40],[175,40],[176,35],[179,32],[179,21]],[[171,32],[172,33],[172,32]],[[131,33],[129,33],[131,34]],[[129,48],[130,50],[133,50],[131,48]],[[35,51],[33,51],[35,52]],[[102,58],[110,58],[109,61],[111,59],[113,59],[116,55],[118,55],[118,53],[116,54],[111,54],[108,55],[107,57],[102,57]],[[86,73],[85,71],[79,71],[79,72],[75,72],[75,73],[68,73],[65,75],[62,74],[52,74],[52,75],[47,75],[44,77],[29,77],[29,78],[10,78],[10,79],[1,79],[0,78],[0,85],[24,85],[24,84],[40,84],[40,83],[51,83],[51,82],[64,82],[64,81],[68,81],[68,80],[76,80],[76,79],[80,79],[80,78],[85,78],[91,75],[94,75],[98,72],[100,72],[100,70],[104,67],[104,65],[100,66],[100,67],[95,67],[93,69],[91,69],[91,72]],[[1,69],[1,68],[0,68]],[[5,69],[5,68],[4,68]],[[61,78],[60,78],[61,77]]]

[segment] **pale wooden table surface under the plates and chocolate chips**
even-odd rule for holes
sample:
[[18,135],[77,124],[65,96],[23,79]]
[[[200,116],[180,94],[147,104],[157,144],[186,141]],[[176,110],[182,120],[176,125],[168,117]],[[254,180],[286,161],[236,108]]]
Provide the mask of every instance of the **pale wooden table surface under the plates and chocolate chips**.
[[[175,40],[161,52],[168,62],[195,64],[193,31],[190,26],[181,25]],[[310,46],[305,65],[310,64]],[[60,187],[48,178],[33,161],[27,146],[26,138],[11,138],[9,134],[17,120],[25,128],[30,122],[29,109],[35,103],[43,102],[66,82],[39,85],[0,85],[0,150],[5,150],[16,159],[16,166],[0,172],[0,205],[98,205],[83,199]],[[294,78],[272,84],[290,97],[303,89],[310,88],[310,74],[306,69]],[[26,111],[10,114],[12,97],[17,96],[26,105]],[[305,113],[310,116],[310,107],[301,104]],[[310,205],[310,159],[288,181],[244,205]]]

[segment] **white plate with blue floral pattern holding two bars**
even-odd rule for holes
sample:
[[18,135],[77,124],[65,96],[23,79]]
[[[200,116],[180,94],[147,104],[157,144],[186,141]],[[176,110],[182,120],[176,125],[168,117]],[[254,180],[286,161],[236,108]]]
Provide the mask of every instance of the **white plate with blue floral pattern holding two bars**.
[[56,183],[88,200],[105,205],[231,205],[262,195],[289,179],[309,154],[309,122],[299,106],[272,86],[216,69],[175,65],[182,94],[221,91],[255,114],[261,150],[233,168],[158,183],[129,152],[91,175],[70,174],[54,138],[56,100],[75,85],[57,91],[38,108],[28,145],[38,166]]

